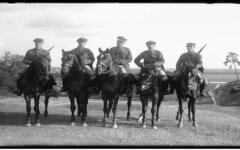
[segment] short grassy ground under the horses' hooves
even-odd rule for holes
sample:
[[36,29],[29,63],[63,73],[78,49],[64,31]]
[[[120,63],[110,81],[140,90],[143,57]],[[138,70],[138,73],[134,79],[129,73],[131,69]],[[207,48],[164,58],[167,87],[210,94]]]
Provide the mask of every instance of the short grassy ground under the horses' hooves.
[[[69,126],[70,105],[68,98],[52,98],[49,103],[49,118],[43,118],[44,105],[41,106],[40,127],[25,127],[25,101],[23,98],[2,98],[0,100],[0,145],[164,145],[164,146],[239,146],[240,108],[221,107],[198,100],[196,118],[199,127],[194,128],[187,121],[184,104],[184,127],[177,128],[175,115],[177,101],[164,101],[160,111],[161,121],[157,130],[151,129],[150,106],[147,112],[147,128],[142,129],[137,118],[141,111],[139,100],[133,101],[131,121],[126,121],[127,101],[118,105],[118,128],[105,128],[101,125],[103,117],[102,100],[90,99],[88,104],[88,127]],[[32,120],[34,113],[32,109]],[[109,119],[111,125],[112,114]]]

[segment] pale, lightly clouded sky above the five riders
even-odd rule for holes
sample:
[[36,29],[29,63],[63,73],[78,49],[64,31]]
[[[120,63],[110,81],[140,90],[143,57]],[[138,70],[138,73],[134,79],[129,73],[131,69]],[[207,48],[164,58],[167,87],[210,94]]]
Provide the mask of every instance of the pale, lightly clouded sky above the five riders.
[[[205,68],[227,68],[223,62],[229,51],[240,54],[240,5],[237,4],[0,4],[0,55],[4,51],[24,55],[34,47],[33,39],[44,39],[51,50],[52,66],[61,66],[61,50],[77,47],[80,37],[94,56],[98,48],[116,46],[117,36],[133,59],[147,50],[148,40],[165,58],[165,68],[175,68],[186,43],[196,43]],[[96,62],[94,63],[95,66]],[[132,61],[130,67],[136,68]]]

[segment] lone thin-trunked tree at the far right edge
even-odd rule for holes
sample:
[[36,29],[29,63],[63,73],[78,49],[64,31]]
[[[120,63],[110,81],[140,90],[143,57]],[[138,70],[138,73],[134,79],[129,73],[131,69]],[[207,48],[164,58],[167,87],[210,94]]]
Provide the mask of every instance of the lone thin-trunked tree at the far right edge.
[[240,65],[240,62],[238,60],[238,54],[234,53],[234,52],[228,52],[227,56],[226,56],[226,60],[224,62],[224,65],[227,66],[228,64],[230,64],[229,68],[232,69],[232,65],[234,65],[234,69],[235,69],[235,73],[237,76],[237,81],[239,82],[239,77],[238,77],[238,72],[237,72],[237,65]]

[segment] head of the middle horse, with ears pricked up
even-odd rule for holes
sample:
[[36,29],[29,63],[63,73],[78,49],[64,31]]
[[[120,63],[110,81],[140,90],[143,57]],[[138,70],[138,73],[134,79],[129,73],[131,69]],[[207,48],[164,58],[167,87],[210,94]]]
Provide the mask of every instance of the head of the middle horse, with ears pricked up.
[[97,75],[109,73],[113,63],[109,49],[103,51],[99,48],[98,50],[100,54],[97,56]]

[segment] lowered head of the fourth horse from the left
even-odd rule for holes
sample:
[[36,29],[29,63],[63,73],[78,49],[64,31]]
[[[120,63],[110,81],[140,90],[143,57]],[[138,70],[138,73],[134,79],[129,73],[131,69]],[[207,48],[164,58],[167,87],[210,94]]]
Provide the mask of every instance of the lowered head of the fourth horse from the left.
[[142,69],[140,73],[141,91],[149,89],[154,84],[155,76],[149,69]]

